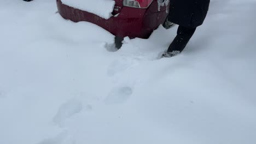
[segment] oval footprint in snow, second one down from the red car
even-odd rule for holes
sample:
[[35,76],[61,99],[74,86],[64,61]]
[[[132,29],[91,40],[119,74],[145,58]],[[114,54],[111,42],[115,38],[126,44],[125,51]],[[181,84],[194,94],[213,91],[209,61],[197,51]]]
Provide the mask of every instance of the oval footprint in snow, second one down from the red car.
[[132,94],[131,87],[114,88],[104,99],[105,104],[121,104],[124,103]]

